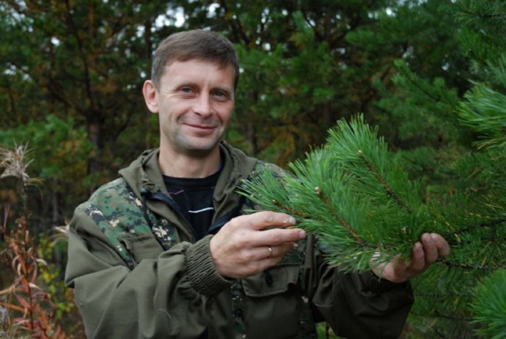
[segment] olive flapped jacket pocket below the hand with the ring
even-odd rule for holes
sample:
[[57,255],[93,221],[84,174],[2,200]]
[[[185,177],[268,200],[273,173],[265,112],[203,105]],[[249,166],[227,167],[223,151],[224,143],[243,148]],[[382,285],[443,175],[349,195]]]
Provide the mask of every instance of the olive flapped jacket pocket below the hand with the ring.
[[242,280],[249,338],[293,338],[299,333],[299,265],[275,266]]

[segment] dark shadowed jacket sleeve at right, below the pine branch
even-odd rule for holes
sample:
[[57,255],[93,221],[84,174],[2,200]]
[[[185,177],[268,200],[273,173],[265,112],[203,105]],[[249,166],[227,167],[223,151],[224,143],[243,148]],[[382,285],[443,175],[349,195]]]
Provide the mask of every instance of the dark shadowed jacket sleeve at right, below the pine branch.
[[414,301],[408,282],[329,267],[314,240],[307,251],[305,276],[315,320],[327,321],[336,334],[350,339],[399,337]]

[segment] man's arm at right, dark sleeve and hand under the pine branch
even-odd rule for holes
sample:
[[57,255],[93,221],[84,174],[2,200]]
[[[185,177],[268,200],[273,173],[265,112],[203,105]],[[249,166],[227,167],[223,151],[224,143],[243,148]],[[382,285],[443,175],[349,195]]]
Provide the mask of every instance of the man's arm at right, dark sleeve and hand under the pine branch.
[[409,263],[395,259],[355,274],[329,267],[322,253],[309,245],[306,280],[315,314],[338,335],[397,338],[414,301],[407,280],[424,272],[437,257],[448,255],[449,246],[439,235],[424,234],[412,252]]

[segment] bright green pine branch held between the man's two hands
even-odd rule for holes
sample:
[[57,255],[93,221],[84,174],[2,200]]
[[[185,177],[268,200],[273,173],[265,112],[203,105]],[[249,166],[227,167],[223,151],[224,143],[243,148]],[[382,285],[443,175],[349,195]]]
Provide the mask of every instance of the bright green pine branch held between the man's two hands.
[[[503,156],[498,163],[502,160]],[[408,259],[412,244],[423,232],[455,236],[457,240],[449,239],[454,246],[474,241],[473,248],[479,247],[495,231],[480,225],[488,221],[500,224],[504,218],[502,197],[506,187],[500,184],[486,195],[475,194],[473,186],[462,187],[451,196],[424,202],[419,185],[408,179],[383,138],[377,138],[377,129],[369,128],[361,116],[349,124],[338,121],[323,148],[289,167],[293,175],[283,174],[281,178],[273,177],[270,171],[260,173],[245,182],[243,194],[266,209],[295,215],[298,227],[318,234],[327,245],[325,252],[332,264],[353,271],[369,269],[378,250],[389,253],[378,262],[391,260],[397,253]],[[500,177],[501,173],[496,178]],[[498,208],[482,206],[483,197],[493,200]],[[462,211],[465,214],[457,216]],[[481,265],[487,260],[496,262],[501,245],[490,246],[481,256],[456,249],[453,257],[465,265],[470,265],[469,260]]]

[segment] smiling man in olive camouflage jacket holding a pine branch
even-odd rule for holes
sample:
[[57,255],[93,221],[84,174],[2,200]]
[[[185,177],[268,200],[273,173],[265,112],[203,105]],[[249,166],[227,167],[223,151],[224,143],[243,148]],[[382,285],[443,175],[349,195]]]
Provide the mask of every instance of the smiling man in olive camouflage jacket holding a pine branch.
[[[327,321],[350,338],[397,337],[410,277],[448,254],[424,234],[408,263],[375,274],[330,268],[294,219],[244,215],[236,193],[263,166],[221,141],[239,67],[213,32],[166,38],[144,83],[160,147],[78,206],[66,283],[90,338],[306,338]],[[383,275],[379,279],[376,275]]]

